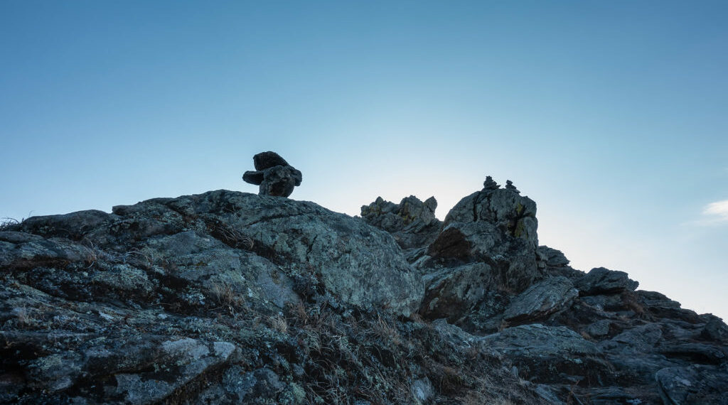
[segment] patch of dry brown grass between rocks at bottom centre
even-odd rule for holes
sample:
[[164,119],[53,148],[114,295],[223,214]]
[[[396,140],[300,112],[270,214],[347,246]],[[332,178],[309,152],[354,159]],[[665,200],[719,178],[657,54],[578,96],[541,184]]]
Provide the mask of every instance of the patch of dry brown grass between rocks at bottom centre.
[[288,361],[304,364],[309,404],[415,404],[412,384],[422,377],[432,382],[434,404],[539,403],[498,359],[454,347],[419,319],[339,313],[324,301],[290,305],[285,321],[284,329],[272,318],[272,329],[295,342]]

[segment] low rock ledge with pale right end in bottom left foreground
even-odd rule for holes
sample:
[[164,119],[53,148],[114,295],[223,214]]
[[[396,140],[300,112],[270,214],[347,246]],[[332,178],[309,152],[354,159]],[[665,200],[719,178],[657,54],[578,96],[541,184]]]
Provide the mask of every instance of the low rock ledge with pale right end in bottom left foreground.
[[0,338],[5,345],[22,348],[30,343],[41,348],[41,357],[30,361],[25,373],[25,385],[34,390],[55,393],[83,385],[88,375],[102,374],[108,380],[103,380],[98,392],[106,401],[129,404],[165,400],[192,380],[233,361],[237,353],[229,342],[161,336],[106,340],[82,334],[37,334],[29,342],[27,334],[0,332]]

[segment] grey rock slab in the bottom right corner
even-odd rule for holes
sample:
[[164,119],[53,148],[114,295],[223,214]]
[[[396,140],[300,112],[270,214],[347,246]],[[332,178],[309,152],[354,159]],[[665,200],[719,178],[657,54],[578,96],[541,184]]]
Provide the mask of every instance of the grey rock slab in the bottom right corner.
[[728,404],[725,367],[670,367],[657,372],[655,378],[665,404]]

